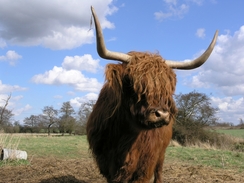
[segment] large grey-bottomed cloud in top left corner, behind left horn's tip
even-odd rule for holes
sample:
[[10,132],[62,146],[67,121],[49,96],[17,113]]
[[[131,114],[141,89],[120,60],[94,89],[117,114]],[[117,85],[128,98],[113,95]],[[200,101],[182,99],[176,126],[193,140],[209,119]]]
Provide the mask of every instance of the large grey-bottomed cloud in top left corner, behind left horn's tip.
[[91,43],[94,38],[94,31],[88,31],[91,5],[96,9],[102,28],[113,28],[106,19],[117,11],[111,4],[112,0],[0,1],[0,47],[10,43],[57,50]]

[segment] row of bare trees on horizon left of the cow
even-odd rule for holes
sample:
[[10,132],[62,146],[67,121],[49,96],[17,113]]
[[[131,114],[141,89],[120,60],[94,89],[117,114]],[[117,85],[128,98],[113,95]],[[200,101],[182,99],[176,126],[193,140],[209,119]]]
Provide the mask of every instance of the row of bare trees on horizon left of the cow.
[[4,106],[0,106],[0,133],[60,133],[64,135],[86,133],[86,121],[95,104],[94,100],[81,104],[76,112],[70,102],[64,102],[60,109],[53,106],[44,106],[42,113],[30,115],[23,120],[14,121],[14,115],[11,110],[7,109],[8,101],[11,95],[5,101]]

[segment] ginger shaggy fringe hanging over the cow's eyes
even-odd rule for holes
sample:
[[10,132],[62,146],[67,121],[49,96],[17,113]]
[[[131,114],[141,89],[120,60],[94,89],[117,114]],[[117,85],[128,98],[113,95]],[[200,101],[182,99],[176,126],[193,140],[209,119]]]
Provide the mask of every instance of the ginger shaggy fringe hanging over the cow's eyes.
[[134,91],[138,96],[146,96],[148,104],[162,101],[164,106],[176,113],[173,94],[176,85],[176,75],[167,66],[164,59],[159,54],[148,52],[129,52],[133,59],[127,64],[125,73],[132,77]]

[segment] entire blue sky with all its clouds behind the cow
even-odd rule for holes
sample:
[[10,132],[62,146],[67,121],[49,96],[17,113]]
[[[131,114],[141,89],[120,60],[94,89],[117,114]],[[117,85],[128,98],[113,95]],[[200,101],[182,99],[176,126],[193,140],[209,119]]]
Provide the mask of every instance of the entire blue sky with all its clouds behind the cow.
[[220,121],[244,119],[243,0],[0,0],[0,105],[11,93],[15,120],[66,101],[77,110],[97,98],[112,61],[96,52],[91,5],[113,51],[184,61],[199,56],[219,30],[202,67],[176,70],[176,94],[206,93]]

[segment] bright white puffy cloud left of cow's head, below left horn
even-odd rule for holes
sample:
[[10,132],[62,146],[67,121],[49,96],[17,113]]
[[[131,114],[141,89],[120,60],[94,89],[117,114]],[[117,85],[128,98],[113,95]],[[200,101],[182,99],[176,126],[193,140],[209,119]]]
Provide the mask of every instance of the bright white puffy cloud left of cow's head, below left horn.
[[98,92],[102,84],[96,78],[88,78],[81,71],[95,73],[102,67],[99,60],[94,60],[91,55],[66,56],[62,67],[54,66],[52,70],[32,77],[32,81],[37,84],[48,85],[70,85],[78,91]]

